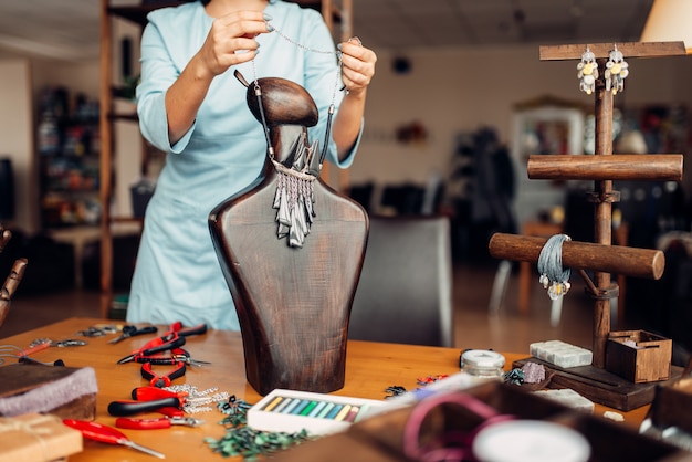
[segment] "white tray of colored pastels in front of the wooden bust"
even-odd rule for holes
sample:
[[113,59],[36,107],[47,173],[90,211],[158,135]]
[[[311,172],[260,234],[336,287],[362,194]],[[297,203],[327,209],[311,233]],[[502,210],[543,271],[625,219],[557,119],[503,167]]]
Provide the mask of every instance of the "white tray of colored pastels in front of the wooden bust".
[[346,430],[384,401],[276,389],[248,410],[255,430],[328,434]]

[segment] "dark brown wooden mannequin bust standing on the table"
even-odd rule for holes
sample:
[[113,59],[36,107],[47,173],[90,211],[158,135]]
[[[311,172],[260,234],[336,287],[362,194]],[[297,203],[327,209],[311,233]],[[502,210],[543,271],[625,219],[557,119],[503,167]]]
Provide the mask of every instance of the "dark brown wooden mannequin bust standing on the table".
[[[242,77],[239,76],[239,78]],[[260,78],[248,104],[262,122],[274,160],[290,166],[317,107],[300,85]],[[247,84],[247,82],[245,82]],[[302,248],[277,238],[272,208],[279,174],[266,158],[258,179],[220,203],[209,227],[240,321],[248,381],[261,395],[275,388],[331,392],[344,386],[348,318],[368,235],[365,210],[319,178],[314,218]]]

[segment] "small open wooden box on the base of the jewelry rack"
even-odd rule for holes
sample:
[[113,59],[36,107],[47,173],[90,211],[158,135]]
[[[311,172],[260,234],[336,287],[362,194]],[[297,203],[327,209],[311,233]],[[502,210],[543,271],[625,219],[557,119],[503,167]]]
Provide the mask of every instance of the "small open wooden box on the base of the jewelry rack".
[[646,330],[611,332],[606,370],[635,384],[668,380],[673,342]]

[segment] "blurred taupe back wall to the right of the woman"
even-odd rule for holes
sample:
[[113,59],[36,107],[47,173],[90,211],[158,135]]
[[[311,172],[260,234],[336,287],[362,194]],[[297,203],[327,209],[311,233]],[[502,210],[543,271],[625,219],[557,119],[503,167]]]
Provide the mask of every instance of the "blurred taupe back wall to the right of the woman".
[[[406,53],[411,71],[403,75],[391,69],[395,56],[378,51],[364,140],[349,171],[354,183],[374,180],[424,185],[430,175],[447,172],[455,137],[463,130],[493,127],[511,146],[513,106],[517,103],[549,95],[594,106],[594,97],[579,92],[576,62],[542,62],[536,46],[415,50]],[[616,96],[617,105],[692,105],[691,57],[628,62],[630,75],[625,92]],[[428,140],[397,143],[396,128],[413,120],[424,125]],[[526,175],[523,167],[518,174]]]

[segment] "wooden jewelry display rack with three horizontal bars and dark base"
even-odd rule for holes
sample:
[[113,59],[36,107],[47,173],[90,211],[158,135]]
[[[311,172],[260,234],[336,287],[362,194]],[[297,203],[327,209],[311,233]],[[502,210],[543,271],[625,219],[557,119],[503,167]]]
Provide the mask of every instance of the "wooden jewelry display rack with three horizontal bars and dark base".
[[[601,70],[606,69],[612,43],[541,46],[541,61],[579,60],[590,50]],[[618,43],[625,57],[662,57],[684,55],[683,42]],[[593,364],[559,370],[560,386],[573,388],[585,397],[620,410],[630,410],[651,402],[656,382],[632,384],[615,376],[606,367],[606,346],[610,335],[610,300],[619,296],[610,274],[658,280],[665,265],[661,251],[611,245],[612,203],[619,192],[614,180],[681,181],[682,155],[617,155],[612,156],[612,115],[615,94],[606,90],[605,73],[596,80],[595,118],[596,149],[588,155],[530,156],[530,179],[594,180],[595,190],[588,200],[595,204],[595,242],[568,241],[563,244],[562,262],[578,270],[594,297]],[[489,243],[490,253],[501,260],[537,263],[547,239],[496,233]],[[586,270],[594,271],[594,282]],[[551,366],[552,367],[552,366]],[[659,382],[660,384],[660,382]]]

